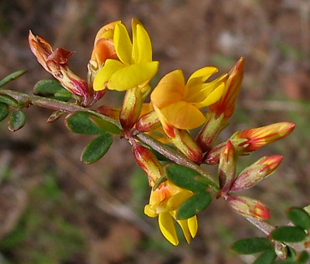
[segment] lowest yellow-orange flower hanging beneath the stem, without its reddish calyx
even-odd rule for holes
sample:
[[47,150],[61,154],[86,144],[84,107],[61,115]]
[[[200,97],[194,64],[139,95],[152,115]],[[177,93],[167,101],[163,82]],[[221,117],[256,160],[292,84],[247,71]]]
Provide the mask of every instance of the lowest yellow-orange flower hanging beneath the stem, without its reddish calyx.
[[177,208],[192,195],[192,192],[166,181],[156,190],[151,191],[149,204],[144,207],[144,213],[147,216],[158,216],[158,224],[162,234],[174,246],[179,244],[179,240],[173,219],[180,225],[187,243],[196,236],[198,229],[196,215],[188,219],[177,220],[175,218]]

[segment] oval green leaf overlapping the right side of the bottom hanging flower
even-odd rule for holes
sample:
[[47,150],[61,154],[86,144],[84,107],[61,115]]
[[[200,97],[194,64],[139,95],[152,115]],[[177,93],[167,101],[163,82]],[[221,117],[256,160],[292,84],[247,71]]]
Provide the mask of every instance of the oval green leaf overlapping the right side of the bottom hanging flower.
[[208,192],[194,194],[187,199],[178,208],[176,213],[177,219],[187,219],[194,216],[196,213],[206,209],[211,203],[212,196]]

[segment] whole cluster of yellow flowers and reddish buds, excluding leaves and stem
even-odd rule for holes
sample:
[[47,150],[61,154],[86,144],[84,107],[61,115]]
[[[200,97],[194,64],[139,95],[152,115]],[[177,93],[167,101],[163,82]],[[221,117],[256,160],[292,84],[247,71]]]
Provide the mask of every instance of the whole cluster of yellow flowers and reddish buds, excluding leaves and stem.
[[[291,133],[295,124],[279,122],[238,131],[214,146],[234,112],[244,75],[244,58],[228,73],[212,81],[208,79],[218,71],[213,66],[196,70],[187,81],[181,69],[169,72],[154,87],[150,102],[144,103],[151,91],[149,81],[157,74],[159,62],[153,61],[151,40],[141,22],[134,18],[131,27],[132,38],[121,21],[109,23],[98,31],[88,63],[87,81],[69,69],[67,64],[72,52],[62,48],[53,51],[47,40],[34,36],[31,31],[29,45],[38,62],[84,107],[92,106],[107,90],[126,91],[120,108],[99,106],[96,111],[120,121],[122,137],[132,145],[135,160],[146,173],[151,188],[144,212],[150,217],[158,216],[162,234],[173,245],[179,243],[175,221],[188,243],[196,236],[196,215],[176,218],[177,209],[194,194],[165,178],[162,163],[137,142],[134,138],[137,133],[149,133],[162,143],[172,144],[198,165],[218,164],[217,198],[225,199],[240,214],[261,220],[269,218],[268,209],[260,201],[231,193],[251,188],[268,177],[283,157],[262,157],[236,177],[237,157],[282,139]],[[207,113],[202,110],[205,107],[208,107]],[[199,126],[202,128],[195,139],[189,130]]]

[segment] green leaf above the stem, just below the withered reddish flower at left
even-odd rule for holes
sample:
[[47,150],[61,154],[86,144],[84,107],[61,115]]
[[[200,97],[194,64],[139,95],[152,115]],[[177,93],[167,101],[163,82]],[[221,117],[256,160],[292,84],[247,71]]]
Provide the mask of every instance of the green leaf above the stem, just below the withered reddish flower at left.
[[57,80],[40,80],[34,84],[33,94],[67,102],[72,94],[64,89]]

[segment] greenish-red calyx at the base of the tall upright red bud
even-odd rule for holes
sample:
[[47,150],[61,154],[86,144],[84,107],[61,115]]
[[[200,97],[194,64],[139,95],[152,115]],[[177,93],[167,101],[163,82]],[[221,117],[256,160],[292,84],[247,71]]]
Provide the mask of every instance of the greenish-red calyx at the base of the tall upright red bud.
[[203,152],[210,150],[216,141],[218,134],[223,128],[223,117],[224,115],[220,115],[218,118],[215,117],[214,113],[208,113],[206,118],[207,122],[200,130],[197,136],[197,143],[202,148]]

